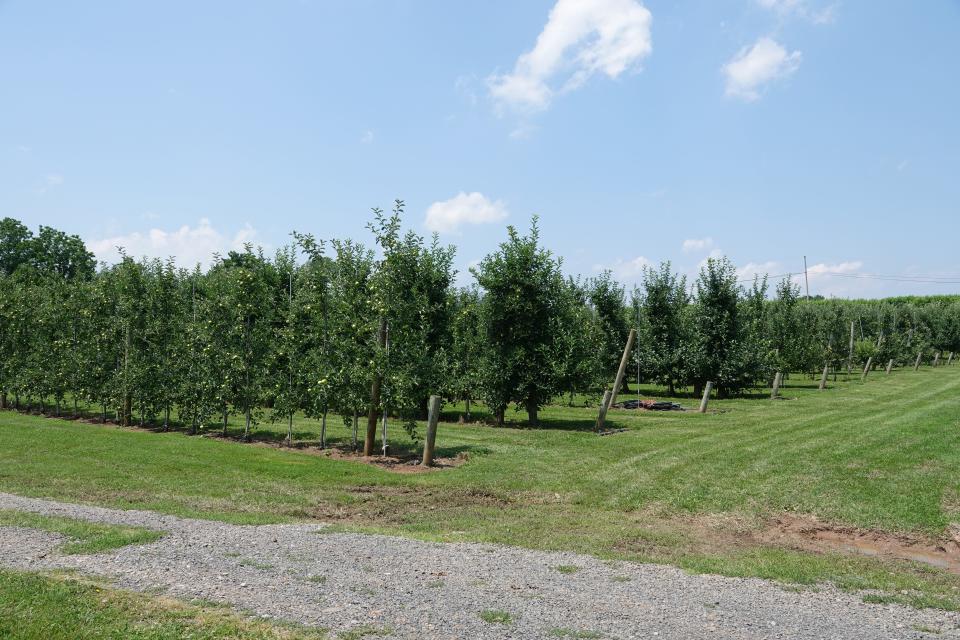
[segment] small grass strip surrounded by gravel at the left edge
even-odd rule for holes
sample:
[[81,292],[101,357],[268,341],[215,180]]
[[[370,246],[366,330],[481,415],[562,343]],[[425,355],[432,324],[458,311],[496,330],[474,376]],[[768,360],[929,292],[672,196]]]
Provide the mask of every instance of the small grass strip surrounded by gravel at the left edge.
[[146,544],[163,537],[162,532],[144,527],[102,524],[10,509],[0,509],[0,527],[41,529],[67,536],[71,541],[60,546],[60,551],[67,554],[98,553],[128,544]]

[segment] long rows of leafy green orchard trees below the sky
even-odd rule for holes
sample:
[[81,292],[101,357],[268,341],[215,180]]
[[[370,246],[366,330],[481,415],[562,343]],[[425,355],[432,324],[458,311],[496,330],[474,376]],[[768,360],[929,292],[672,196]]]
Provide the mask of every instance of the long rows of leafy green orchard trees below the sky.
[[[804,300],[789,280],[738,282],[710,259],[688,287],[669,263],[627,296],[609,272],[565,277],[537,220],[455,286],[454,248],[403,232],[403,203],[373,212],[370,247],[294,233],[210,268],[123,255],[97,267],[76,236],[0,221],[0,403],[104,420],[226,428],[337,416],[372,451],[386,410],[412,429],[427,399],[482,401],[497,424],[612,381],[627,334],[645,382],[724,396],[776,371],[843,369],[960,351],[960,298]],[[853,323],[854,349],[850,335]],[[69,406],[72,405],[72,408]],[[364,430],[361,432],[361,424]]]

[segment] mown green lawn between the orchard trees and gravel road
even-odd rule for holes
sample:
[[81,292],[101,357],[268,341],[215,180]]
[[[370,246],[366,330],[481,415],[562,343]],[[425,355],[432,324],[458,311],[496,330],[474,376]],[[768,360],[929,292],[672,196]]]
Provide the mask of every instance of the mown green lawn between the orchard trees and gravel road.
[[[671,563],[960,609],[960,576],[907,561],[811,553],[764,537],[797,515],[917,539],[960,520],[960,367],[871,374],[786,399],[713,401],[706,415],[552,406],[544,426],[443,423],[455,469],[395,473],[349,460],[183,433],[0,414],[0,490],[263,523],[318,519],[361,531]],[[690,406],[694,400],[684,402]],[[457,408],[445,416],[455,419]],[[520,416],[516,418],[519,420]],[[349,437],[330,421],[332,438]],[[315,421],[297,437],[317,437]],[[422,429],[421,429],[422,431]],[[278,441],[283,426],[261,425]],[[395,446],[411,448],[399,428]]]

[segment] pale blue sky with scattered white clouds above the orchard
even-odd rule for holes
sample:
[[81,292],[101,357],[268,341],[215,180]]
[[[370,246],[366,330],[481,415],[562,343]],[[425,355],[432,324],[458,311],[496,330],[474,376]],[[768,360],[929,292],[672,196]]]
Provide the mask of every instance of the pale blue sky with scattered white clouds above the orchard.
[[538,215],[628,287],[960,293],[958,62],[960,0],[0,0],[0,216],[191,266],[400,198],[461,284]]

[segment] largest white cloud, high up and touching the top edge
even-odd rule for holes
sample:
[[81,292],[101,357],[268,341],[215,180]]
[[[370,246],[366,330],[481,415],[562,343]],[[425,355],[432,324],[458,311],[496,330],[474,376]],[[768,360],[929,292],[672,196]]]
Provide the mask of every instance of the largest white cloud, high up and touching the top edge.
[[653,50],[652,20],[636,0],[557,0],[533,49],[511,73],[487,78],[490,94],[499,109],[539,111],[596,73],[638,69]]

